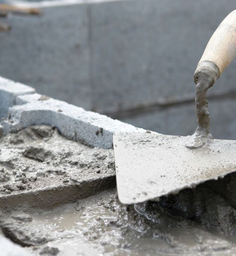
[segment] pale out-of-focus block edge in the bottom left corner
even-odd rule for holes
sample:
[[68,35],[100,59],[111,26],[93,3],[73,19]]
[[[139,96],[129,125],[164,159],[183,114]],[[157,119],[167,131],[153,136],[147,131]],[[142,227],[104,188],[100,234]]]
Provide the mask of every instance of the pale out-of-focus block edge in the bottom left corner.
[[10,239],[0,234],[1,256],[30,256],[25,248],[13,243]]

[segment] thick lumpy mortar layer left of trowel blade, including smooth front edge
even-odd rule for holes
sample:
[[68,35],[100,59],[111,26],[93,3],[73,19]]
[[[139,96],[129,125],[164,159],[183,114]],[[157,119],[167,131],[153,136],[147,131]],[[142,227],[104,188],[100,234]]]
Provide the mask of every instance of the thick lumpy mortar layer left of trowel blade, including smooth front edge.
[[113,150],[69,141],[55,127],[9,133],[0,140],[0,148],[2,207],[27,203],[50,208],[115,184]]

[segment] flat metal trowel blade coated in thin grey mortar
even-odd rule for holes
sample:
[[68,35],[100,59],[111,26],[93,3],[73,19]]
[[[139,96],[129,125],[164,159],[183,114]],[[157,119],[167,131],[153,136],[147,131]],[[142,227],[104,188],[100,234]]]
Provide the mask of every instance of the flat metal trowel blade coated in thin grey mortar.
[[113,136],[118,197],[140,203],[236,171],[236,141],[212,140],[188,149],[188,137],[116,132]]

